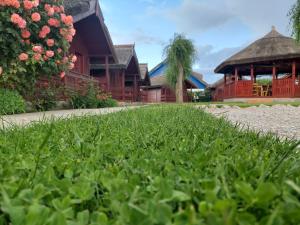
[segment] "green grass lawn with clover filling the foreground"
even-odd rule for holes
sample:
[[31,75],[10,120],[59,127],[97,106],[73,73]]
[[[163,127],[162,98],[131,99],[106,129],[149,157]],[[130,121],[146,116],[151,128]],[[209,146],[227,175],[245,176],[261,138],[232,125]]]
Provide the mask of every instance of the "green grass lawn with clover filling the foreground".
[[295,146],[176,105],[3,130],[0,224],[300,224]]

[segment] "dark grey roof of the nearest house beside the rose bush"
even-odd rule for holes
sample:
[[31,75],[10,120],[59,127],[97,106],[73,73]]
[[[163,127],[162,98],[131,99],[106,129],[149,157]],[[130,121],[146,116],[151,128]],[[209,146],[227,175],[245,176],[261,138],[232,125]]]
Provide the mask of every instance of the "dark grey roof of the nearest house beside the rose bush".
[[64,7],[66,13],[73,16],[74,23],[77,23],[92,15],[95,15],[99,18],[100,26],[103,29],[111,54],[115,62],[117,63],[118,59],[116,56],[115,49],[113,47],[113,42],[107,29],[107,26],[104,23],[104,17],[98,0],[64,0]]

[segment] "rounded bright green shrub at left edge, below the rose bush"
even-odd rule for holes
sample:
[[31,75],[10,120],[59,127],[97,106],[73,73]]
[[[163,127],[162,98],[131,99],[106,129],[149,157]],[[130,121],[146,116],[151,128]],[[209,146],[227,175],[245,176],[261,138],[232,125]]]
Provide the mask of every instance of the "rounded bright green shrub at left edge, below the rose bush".
[[25,108],[25,101],[18,92],[0,89],[0,115],[23,113]]

